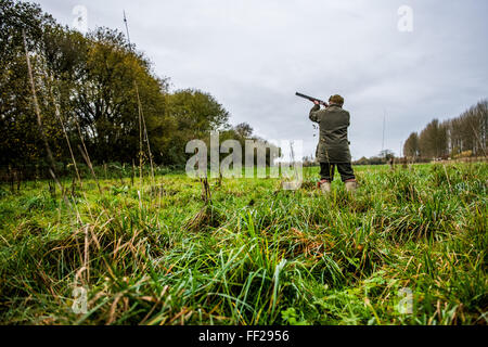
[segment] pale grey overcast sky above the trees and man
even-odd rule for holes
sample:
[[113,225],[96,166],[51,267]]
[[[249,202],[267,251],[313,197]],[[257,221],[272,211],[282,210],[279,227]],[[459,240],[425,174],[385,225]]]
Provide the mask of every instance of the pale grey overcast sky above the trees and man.
[[[452,118],[488,97],[488,1],[463,0],[41,0],[73,26],[73,9],[88,26],[124,30],[172,90],[215,95],[231,123],[249,123],[265,139],[317,138],[311,104],[339,93],[351,114],[355,159],[386,149],[400,154],[410,132]],[[401,5],[413,30],[400,31]],[[404,23],[404,22],[402,22]],[[406,28],[406,26],[402,26]]]

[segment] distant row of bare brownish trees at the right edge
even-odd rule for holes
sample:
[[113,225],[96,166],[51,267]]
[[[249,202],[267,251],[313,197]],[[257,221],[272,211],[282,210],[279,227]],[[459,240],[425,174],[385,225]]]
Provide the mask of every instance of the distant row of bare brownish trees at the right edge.
[[488,101],[483,100],[459,117],[432,120],[420,133],[407,139],[403,153],[412,160],[485,156]]

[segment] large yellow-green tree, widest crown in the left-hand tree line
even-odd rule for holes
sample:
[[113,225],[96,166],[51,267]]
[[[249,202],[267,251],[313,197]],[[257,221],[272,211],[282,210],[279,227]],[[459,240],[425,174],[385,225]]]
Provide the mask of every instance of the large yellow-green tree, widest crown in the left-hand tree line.
[[[130,162],[139,153],[138,93],[150,143],[165,150],[171,123],[165,117],[167,80],[155,78],[142,55],[129,50],[124,36],[99,28],[88,39],[86,74],[76,90],[74,114],[94,156]],[[136,86],[138,86],[136,88]]]

